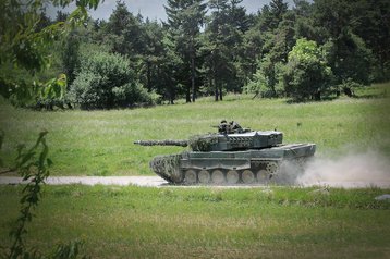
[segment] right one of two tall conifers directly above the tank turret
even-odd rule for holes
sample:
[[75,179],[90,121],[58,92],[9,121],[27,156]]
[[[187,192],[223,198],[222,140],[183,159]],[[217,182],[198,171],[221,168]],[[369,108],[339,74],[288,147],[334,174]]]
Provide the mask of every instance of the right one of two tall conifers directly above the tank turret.
[[[249,20],[241,0],[212,0],[211,11],[203,37],[202,53],[206,85],[214,89],[215,100],[222,100],[223,90],[241,91],[244,73],[241,73],[245,51],[244,33],[249,29]],[[244,64],[243,64],[244,65]],[[240,71],[241,70],[241,71]],[[241,74],[240,74],[241,73]],[[240,78],[241,76],[241,78]]]

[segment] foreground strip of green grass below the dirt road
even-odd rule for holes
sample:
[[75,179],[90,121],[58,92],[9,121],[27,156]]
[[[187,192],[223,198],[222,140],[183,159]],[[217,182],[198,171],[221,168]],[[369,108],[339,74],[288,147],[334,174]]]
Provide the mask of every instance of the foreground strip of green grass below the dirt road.
[[[0,186],[2,246],[19,190]],[[27,240],[83,239],[92,258],[389,258],[386,193],[46,186]]]

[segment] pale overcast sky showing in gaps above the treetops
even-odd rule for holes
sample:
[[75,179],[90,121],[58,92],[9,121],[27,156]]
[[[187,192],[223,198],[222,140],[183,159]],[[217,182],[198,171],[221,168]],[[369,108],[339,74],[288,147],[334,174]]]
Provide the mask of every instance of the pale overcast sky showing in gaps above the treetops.
[[[149,20],[166,21],[166,10],[163,5],[167,4],[167,0],[124,0],[127,9],[133,14],[141,13],[144,17]],[[247,10],[247,13],[256,13],[264,4],[269,3],[270,0],[243,0],[242,5]],[[285,0],[291,8],[293,0]],[[96,11],[92,11],[90,14],[94,18],[108,20],[112,13],[112,10],[117,5],[117,0],[106,0],[100,3]],[[72,8],[65,10],[70,12]],[[56,17],[56,11],[49,11],[51,17]]]

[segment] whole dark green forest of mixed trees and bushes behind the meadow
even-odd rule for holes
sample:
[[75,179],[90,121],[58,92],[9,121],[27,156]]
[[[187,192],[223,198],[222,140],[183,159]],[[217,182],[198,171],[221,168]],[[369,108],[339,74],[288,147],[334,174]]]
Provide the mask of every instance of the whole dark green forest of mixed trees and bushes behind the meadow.
[[112,109],[229,92],[306,101],[390,79],[387,0],[271,0],[255,14],[242,0],[168,0],[167,21],[117,1],[108,21],[85,13],[82,26],[40,41],[21,32],[47,34],[80,17],[50,18],[42,5],[15,32],[7,26],[26,15],[7,2],[0,94],[16,106]]

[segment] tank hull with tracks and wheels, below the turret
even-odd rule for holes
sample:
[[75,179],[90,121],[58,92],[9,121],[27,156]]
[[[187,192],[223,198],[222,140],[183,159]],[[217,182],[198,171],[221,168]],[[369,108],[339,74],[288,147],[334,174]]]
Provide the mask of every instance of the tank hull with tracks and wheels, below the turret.
[[[235,185],[278,183],[291,166],[301,166],[316,151],[315,144],[289,144],[243,151],[186,151],[158,156],[151,170],[171,184]],[[296,166],[295,166],[296,165]]]

